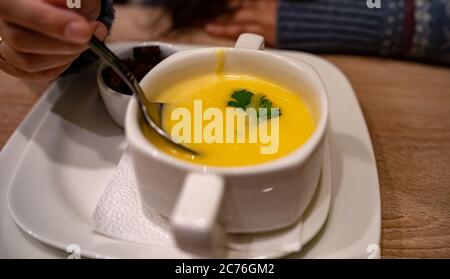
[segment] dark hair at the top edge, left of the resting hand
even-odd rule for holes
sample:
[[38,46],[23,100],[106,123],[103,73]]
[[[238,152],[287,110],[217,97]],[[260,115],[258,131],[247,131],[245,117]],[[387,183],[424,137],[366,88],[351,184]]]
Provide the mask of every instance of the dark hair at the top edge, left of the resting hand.
[[164,0],[174,25],[191,25],[214,18],[227,11],[227,0]]

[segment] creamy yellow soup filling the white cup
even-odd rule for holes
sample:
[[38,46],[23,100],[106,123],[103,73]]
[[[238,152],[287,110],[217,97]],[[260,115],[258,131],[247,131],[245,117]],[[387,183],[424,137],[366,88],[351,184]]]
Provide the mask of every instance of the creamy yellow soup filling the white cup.
[[[243,110],[228,106],[228,102],[232,100],[231,95],[238,89],[246,89],[255,94],[265,95],[267,99],[272,101],[273,108],[280,109],[281,115],[272,117],[269,120],[256,122],[250,122],[247,118],[245,122],[247,125],[243,129],[242,125],[238,126],[236,120],[233,122],[234,142],[231,140],[227,142],[226,133],[229,131],[226,125],[227,108],[228,111],[234,111],[238,115],[242,113],[246,114]],[[314,131],[312,114],[299,95],[267,80],[246,75],[211,74],[186,80],[170,87],[155,101],[168,104],[164,106],[162,113],[163,129],[171,134],[174,131],[173,129],[178,127],[178,134],[185,136],[185,139],[189,138],[191,141],[190,143],[186,143],[187,141],[185,140],[183,144],[197,151],[199,155],[193,156],[168,144],[156,135],[151,128],[142,125],[146,137],[156,147],[166,153],[200,165],[222,167],[248,166],[275,160],[300,147]],[[195,105],[194,101],[197,102],[197,105]],[[201,101],[201,110],[199,110],[198,101]],[[217,108],[218,110],[216,109],[216,112],[220,111],[222,113],[222,119],[217,119],[217,117],[210,115],[210,120],[205,120],[208,117],[204,117],[205,115],[202,114],[209,108]],[[184,112],[189,112],[191,119],[183,119],[180,115],[174,119],[174,112],[177,109],[178,111],[182,109]],[[179,129],[182,120],[185,124],[190,120],[189,123],[192,125],[188,125],[191,126],[190,131]],[[211,125],[207,128],[208,124],[211,124],[212,121],[216,121],[216,124],[222,124],[222,131],[220,131],[217,125],[212,126],[217,129],[211,129]],[[278,129],[275,127],[278,127]],[[195,129],[197,130],[194,131]],[[210,133],[207,133],[206,130]],[[270,135],[271,137],[262,138],[258,134],[259,131],[264,131],[265,135]],[[201,138],[202,132],[206,133],[203,138]],[[250,140],[251,132],[254,132],[252,134],[253,140]],[[188,137],[189,133],[190,137]],[[195,142],[196,135],[197,142]],[[216,141],[207,143],[207,135],[214,135]],[[241,136],[239,142],[238,135]],[[256,142],[255,135],[258,135]],[[199,142],[199,136],[201,142]],[[222,137],[222,142],[218,140],[220,137]],[[264,147],[266,148],[266,154],[262,152]],[[268,149],[271,152],[267,152]]]

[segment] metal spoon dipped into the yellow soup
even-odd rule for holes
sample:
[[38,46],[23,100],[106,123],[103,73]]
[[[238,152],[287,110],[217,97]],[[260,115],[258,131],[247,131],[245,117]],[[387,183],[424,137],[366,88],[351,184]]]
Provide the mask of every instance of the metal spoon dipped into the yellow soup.
[[[163,137],[169,143],[193,154],[198,155],[198,153],[190,148],[187,148],[184,145],[176,143],[171,136],[169,136],[162,128],[161,128],[161,120],[159,119],[157,124],[154,119],[149,114],[149,108],[151,109],[161,109],[163,104],[160,103],[152,103],[147,100],[145,97],[144,91],[142,90],[139,82],[133,75],[133,73],[128,69],[125,64],[120,61],[120,59],[99,39],[93,36],[89,42],[89,46],[92,51],[95,52],[108,66],[110,66],[127,84],[127,86],[133,92],[133,96],[136,98],[139,107],[141,109],[142,114],[144,115],[145,122],[153,128],[158,135]],[[160,115],[158,113],[158,115]]]

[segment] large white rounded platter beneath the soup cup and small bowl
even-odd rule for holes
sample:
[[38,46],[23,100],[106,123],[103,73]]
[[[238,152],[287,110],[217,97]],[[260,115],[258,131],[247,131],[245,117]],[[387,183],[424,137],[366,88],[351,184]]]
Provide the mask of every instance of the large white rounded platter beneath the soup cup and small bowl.
[[[119,48],[124,46],[130,44]],[[296,256],[367,257],[367,246],[378,245],[380,239],[379,189],[370,138],[356,98],[345,77],[327,62],[305,54],[288,55],[308,61],[319,71],[330,92],[331,107],[333,203],[329,221],[318,238]],[[29,129],[33,135],[27,135],[28,142],[22,142],[21,148],[19,142],[14,142],[20,135],[15,135],[2,152],[0,172],[9,178],[1,181],[1,194],[5,184],[10,184],[10,205],[15,219],[28,234],[54,246],[65,249],[71,243],[78,244],[91,257],[188,257],[177,249],[149,249],[92,233],[90,216],[124,145],[121,130],[112,124],[96,95],[93,71],[61,82],[64,88],[52,87],[43,97],[47,102],[39,104],[42,120],[34,121],[38,128],[19,128],[19,133]],[[61,92],[54,91],[66,92],[58,98]],[[42,106],[46,106],[47,112]],[[6,168],[5,158],[14,162],[13,147],[17,165]],[[12,181],[14,170],[16,176]],[[2,226],[0,248],[6,249],[0,249],[1,257],[30,256],[33,251],[36,257],[54,257],[54,250],[42,251],[41,246],[23,244],[30,241],[23,235],[13,236],[15,228],[4,213],[2,208],[0,218],[2,225],[6,222],[7,226]],[[317,230],[320,227],[321,224]],[[307,235],[302,237],[305,242],[309,240]],[[14,246],[17,248],[7,243],[13,238],[20,243]],[[20,247],[28,250],[20,253]]]

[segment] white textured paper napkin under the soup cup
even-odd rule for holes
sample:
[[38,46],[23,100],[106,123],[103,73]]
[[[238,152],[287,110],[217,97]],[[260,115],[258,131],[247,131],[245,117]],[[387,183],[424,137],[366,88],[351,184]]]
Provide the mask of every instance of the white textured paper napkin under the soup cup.
[[[133,166],[125,153],[105,189],[92,216],[95,232],[108,237],[155,245],[175,247],[169,231],[169,220],[156,212],[141,208]],[[230,234],[227,249],[235,257],[258,257],[300,251],[302,222],[278,231],[259,234]]]

